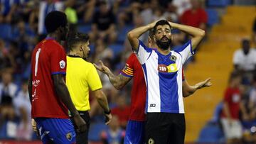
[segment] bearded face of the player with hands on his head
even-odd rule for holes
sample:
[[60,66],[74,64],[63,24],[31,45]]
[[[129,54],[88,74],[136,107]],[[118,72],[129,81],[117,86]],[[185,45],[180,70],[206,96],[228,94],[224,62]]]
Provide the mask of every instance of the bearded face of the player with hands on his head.
[[168,25],[157,26],[156,33],[156,45],[162,50],[168,50],[171,45],[171,29]]

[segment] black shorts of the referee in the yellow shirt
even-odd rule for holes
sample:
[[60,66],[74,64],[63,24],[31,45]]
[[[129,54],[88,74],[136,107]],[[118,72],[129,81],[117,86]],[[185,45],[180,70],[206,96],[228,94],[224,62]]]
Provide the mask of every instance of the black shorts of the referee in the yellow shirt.
[[[90,128],[90,115],[88,111],[78,111],[82,119],[86,122],[87,125],[87,130],[83,133],[78,133],[76,131],[77,128],[75,128],[75,139],[76,139],[76,144],[87,144],[88,143],[88,132]],[[70,118],[73,125],[75,126],[74,119],[71,117]]]

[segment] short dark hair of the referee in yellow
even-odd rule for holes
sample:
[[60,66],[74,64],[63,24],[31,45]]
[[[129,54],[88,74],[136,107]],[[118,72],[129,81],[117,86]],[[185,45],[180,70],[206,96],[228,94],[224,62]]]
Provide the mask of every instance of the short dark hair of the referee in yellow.
[[77,44],[77,43],[86,43],[89,40],[89,35],[87,33],[72,33],[68,35],[68,48],[72,50],[72,48]]

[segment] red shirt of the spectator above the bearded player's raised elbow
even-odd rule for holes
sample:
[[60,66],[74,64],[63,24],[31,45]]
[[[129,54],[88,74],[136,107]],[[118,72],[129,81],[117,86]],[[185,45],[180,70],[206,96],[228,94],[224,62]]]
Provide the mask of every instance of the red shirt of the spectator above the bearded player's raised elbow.
[[185,11],[181,16],[181,23],[198,28],[201,23],[207,23],[207,13],[204,9],[191,9]]

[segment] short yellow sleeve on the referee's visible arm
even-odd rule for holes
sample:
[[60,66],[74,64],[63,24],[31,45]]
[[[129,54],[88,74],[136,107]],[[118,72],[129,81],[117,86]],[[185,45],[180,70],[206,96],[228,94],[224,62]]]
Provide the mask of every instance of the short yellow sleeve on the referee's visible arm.
[[90,64],[89,74],[87,74],[87,83],[92,91],[97,89],[102,89],[102,83],[100,81],[99,74],[97,73],[96,68]]

